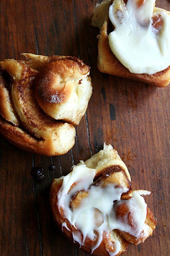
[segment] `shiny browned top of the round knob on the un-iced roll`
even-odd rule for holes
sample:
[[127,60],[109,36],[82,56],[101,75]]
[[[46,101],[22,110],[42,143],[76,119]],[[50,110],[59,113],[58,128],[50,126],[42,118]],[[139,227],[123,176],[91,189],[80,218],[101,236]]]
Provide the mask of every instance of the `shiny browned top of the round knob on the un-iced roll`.
[[89,66],[76,57],[52,61],[36,78],[36,96],[49,103],[66,101],[74,89],[74,81],[81,80],[89,71]]

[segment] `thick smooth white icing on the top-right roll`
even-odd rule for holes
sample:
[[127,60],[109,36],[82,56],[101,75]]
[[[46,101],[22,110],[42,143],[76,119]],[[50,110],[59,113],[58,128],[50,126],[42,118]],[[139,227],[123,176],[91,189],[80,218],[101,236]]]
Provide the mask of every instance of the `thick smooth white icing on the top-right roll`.
[[[170,15],[154,12],[155,0],[115,0],[109,7],[114,30],[109,46],[131,73],[155,74],[170,65]],[[153,26],[154,16],[160,19]]]

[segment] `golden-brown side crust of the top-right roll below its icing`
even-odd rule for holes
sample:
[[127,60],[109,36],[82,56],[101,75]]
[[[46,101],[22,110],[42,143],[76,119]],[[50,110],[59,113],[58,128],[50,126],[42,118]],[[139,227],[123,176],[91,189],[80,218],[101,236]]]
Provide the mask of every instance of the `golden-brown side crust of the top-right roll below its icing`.
[[[111,2],[110,2],[111,3]],[[155,8],[158,11],[159,8]],[[162,10],[162,9],[161,9]],[[165,10],[164,10],[165,11]],[[112,53],[108,44],[108,29],[110,26],[110,20],[108,18],[108,9],[104,24],[101,28],[100,35],[98,36],[98,69],[107,74],[121,76],[128,79],[141,81],[157,87],[165,87],[170,82],[170,66],[152,75],[148,74],[134,74],[131,73]]]

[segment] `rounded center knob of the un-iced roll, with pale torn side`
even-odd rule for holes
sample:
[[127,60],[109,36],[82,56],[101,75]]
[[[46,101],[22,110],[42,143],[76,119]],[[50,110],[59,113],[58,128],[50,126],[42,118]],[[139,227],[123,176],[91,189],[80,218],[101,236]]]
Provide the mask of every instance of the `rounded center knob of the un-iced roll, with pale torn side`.
[[36,78],[36,100],[45,113],[78,125],[92,94],[90,68],[72,56],[23,54],[25,63],[40,73]]

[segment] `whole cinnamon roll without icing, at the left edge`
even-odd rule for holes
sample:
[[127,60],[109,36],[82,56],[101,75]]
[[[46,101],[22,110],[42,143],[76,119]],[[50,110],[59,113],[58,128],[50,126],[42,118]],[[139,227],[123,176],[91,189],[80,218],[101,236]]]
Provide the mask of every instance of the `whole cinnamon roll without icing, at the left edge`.
[[0,132],[21,149],[65,154],[91,97],[89,67],[75,57],[23,55],[28,61],[0,61]]

